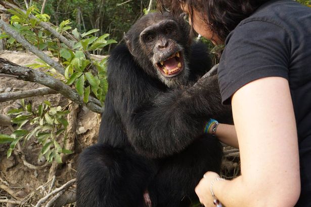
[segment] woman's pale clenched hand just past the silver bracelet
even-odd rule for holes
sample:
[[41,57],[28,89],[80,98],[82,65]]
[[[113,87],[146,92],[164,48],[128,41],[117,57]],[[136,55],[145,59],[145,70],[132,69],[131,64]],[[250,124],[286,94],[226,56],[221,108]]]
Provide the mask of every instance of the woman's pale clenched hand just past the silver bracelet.
[[[210,184],[215,178],[219,178],[220,176],[214,172],[207,172],[204,174],[204,177],[201,179],[197,187],[195,188],[195,192],[197,193],[200,202],[205,207],[213,207],[213,196],[210,192]],[[216,184],[216,183],[215,183]],[[216,196],[216,195],[215,195]],[[217,196],[216,196],[217,197]]]

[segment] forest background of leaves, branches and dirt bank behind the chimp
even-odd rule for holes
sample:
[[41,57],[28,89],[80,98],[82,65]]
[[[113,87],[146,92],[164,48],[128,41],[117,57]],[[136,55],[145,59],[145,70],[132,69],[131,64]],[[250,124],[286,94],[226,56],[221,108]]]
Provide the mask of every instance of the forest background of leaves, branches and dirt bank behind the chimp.
[[[0,206],[74,206],[78,154],[97,140],[106,56],[155,0],[0,5]],[[238,150],[226,148],[223,177],[239,173]]]

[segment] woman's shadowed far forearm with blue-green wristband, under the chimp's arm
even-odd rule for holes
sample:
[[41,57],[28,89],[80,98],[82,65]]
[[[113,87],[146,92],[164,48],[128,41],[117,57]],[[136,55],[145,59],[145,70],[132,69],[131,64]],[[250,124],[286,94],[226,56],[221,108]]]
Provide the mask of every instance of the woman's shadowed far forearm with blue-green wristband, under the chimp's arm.
[[[209,129],[209,134],[212,134],[212,127]],[[237,133],[234,125],[226,125],[225,123],[219,123],[215,136],[219,139],[220,142],[223,142],[227,145],[239,148]]]

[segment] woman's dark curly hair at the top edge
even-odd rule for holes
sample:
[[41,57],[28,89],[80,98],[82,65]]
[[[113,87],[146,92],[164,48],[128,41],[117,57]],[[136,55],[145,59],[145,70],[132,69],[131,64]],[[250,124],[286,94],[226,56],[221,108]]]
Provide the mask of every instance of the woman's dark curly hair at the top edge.
[[158,8],[169,10],[174,15],[183,13],[181,5],[188,6],[189,15],[193,10],[204,15],[204,21],[212,32],[224,43],[228,34],[260,5],[270,0],[158,0]]

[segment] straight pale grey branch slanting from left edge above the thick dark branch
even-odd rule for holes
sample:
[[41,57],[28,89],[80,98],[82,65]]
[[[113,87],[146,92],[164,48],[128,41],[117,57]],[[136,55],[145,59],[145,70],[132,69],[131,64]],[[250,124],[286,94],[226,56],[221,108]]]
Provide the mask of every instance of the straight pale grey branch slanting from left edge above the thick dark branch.
[[38,50],[37,48],[35,48],[33,45],[31,45],[26,39],[25,37],[21,36],[18,32],[16,32],[14,29],[12,29],[7,23],[5,23],[4,21],[2,21],[0,19],[0,27],[6,32],[8,33],[10,36],[12,36],[13,38],[15,38],[17,40],[17,42],[19,42],[22,46],[24,46],[26,49],[28,49],[29,51],[31,51],[33,54],[35,54],[36,56],[38,56],[40,59],[42,59],[43,61],[45,61],[46,63],[48,63],[50,66],[54,67],[57,71],[59,71],[61,74],[65,73],[65,69],[63,68],[63,66],[56,62],[55,60],[53,60],[52,58],[50,58],[47,54],[43,53],[42,51]]

